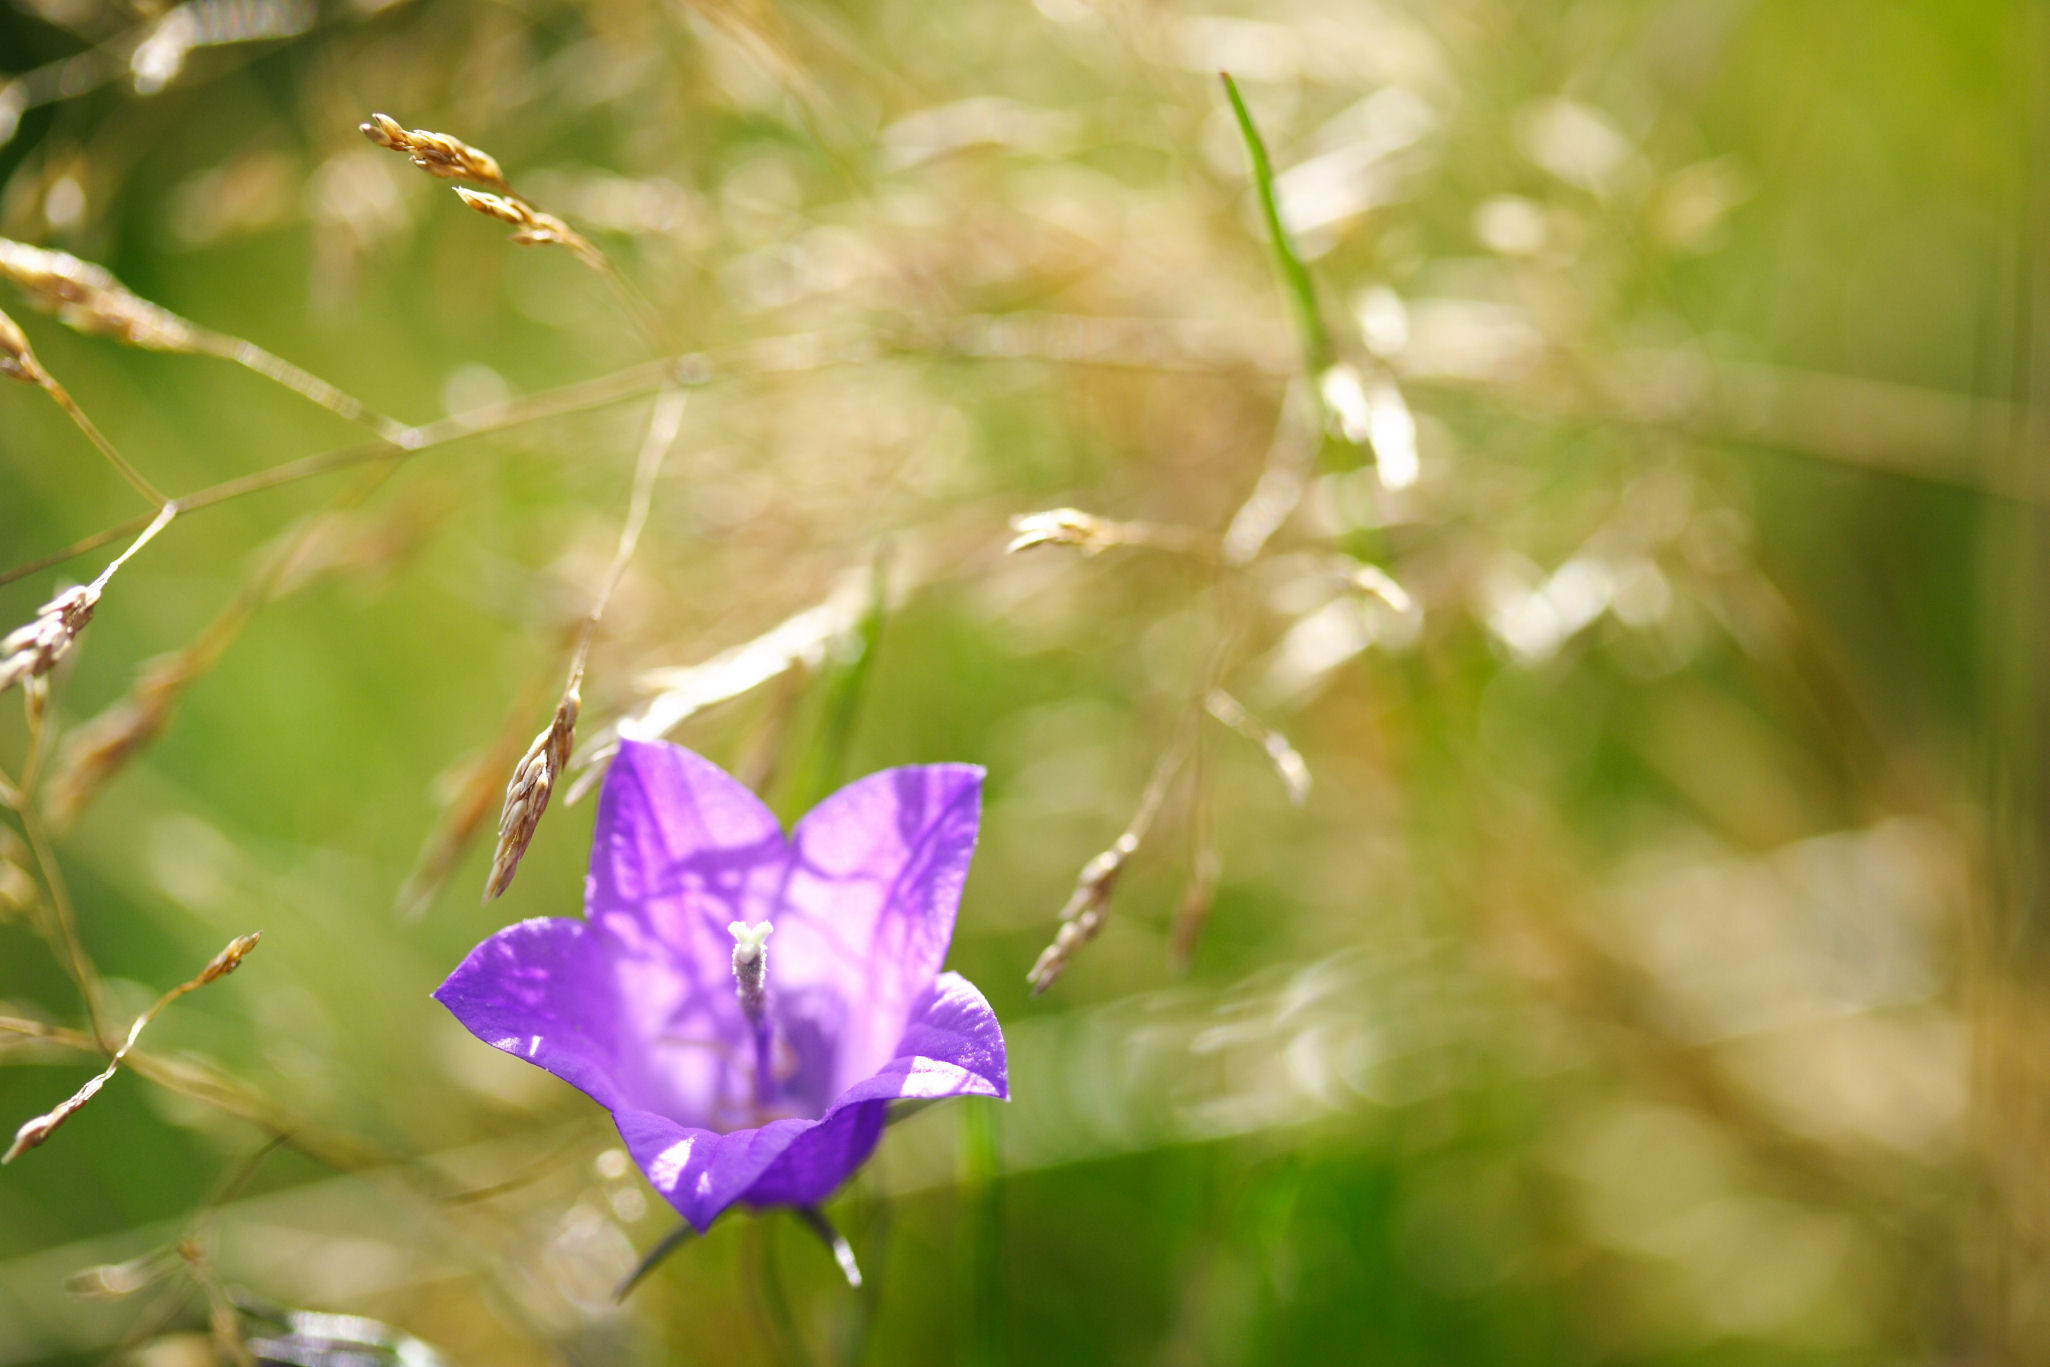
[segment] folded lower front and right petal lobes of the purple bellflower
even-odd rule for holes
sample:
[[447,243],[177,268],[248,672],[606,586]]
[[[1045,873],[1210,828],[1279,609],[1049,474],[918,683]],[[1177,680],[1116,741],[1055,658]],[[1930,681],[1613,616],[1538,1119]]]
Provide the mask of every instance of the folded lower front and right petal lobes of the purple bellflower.
[[830,1197],[875,1152],[892,1101],[1009,1094],[996,1012],[966,978],[941,974],[920,998],[898,1058],[847,1088],[822,1119],[726,1135],[648,1111],[613,1119],[648,1180],[703,1232],[736,1201],[814,1205]]

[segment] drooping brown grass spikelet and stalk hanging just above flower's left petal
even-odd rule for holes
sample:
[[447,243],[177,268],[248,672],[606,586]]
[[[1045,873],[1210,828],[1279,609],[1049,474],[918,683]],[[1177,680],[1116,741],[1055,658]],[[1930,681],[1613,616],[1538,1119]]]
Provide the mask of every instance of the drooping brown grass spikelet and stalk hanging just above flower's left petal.
[[492,851],[492,869],[484,879],[484,900],[490,902],[512,885],[519,861],[533,842],[533,832],[547,812],[547,801],[570,767],[570,750],[576,746],[576,715],[582,709],[584,664],[590,658],[590,639],[605,619],[605,607],[613,590],[625,576],[627,562],[640,545],[642,529],[648,525],[648,508],[654,502],[654,482],[662,473],[668,449],[676,445],[683,430],[683,389],[664,389],[648,418],[648,432],[642,437],[640,455],[633,461],[633,492],[627,498],[627,516],[619,527],[619,545],[613,549],[613,564],[605,570],[590,611],[576,633],[576,648],[570,658],[570,682],[562,691],[556,715],[533,744],[525,758],[512,769],[506,785],[506,801],[498,814],[498,848]]

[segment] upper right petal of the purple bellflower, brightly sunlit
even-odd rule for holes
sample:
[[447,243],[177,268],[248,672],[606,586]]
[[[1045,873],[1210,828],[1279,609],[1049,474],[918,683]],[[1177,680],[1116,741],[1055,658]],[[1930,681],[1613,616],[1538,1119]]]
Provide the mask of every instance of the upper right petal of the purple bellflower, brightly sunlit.
[[791,832],[771,990],[822,988],[851,1006],[830,1090],[890,1062],[933,986],[980,822],[982,769],[914,764],[849,783]]

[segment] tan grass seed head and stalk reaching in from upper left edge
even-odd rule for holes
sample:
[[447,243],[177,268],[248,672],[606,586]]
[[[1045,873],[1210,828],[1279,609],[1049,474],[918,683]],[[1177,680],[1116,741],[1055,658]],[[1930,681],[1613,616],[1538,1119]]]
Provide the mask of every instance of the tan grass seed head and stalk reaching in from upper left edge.
[[234,361],[351,422],[373,428],[394,445],[410,445],[412,428],[404,422],[375,412],[326,379],[273,357],[254,342],[201,328],[158,303],[150,303],[117,281],[111,271],[90,260],[0,238],[0,279],[12,281],[29,303],[45,314],[55,314],[68,328],[144,350]]

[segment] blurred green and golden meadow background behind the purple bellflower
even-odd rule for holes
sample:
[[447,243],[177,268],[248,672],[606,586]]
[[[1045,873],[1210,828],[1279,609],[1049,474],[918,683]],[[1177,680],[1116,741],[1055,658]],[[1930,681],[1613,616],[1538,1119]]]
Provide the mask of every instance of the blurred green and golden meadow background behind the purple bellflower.
[[[705,355],[584,754],[670,705],[785,816],[986,764],[951,965],[1015,1101],[892,1129],[830,1207],[859,1293],[734,1215],[617,1306],[674,1215],[428,1000],[578,908],[588,799],[478,889],[636,371],[197,510],[111,584],[35,791],[109,1017],[264,941],[0,1170],[0,1363],[234,1361],[228,1295],[449,1363],[2044,1361],[2044,53],[2027,0],[10,0],[0,234],[406,422],[658,355],[369,146],[385,111]],[[365,441],[0,307],[174,494]],[[1224,553],[1263,471],[1279,521]],[[1109,545],[1004,553],[1062,506]],[[0,391],[4,566],[139,510]],[[76,1029],[0,859],[0,1017]],[[12,1127],[98,1060],[16,1027],[0,1064]]]

